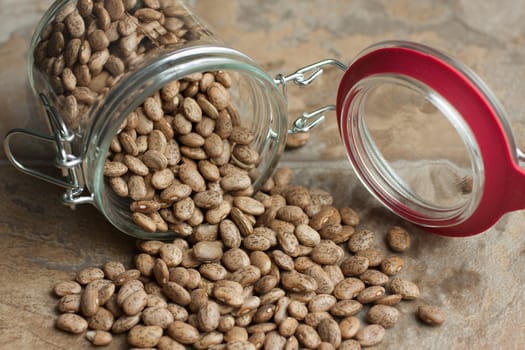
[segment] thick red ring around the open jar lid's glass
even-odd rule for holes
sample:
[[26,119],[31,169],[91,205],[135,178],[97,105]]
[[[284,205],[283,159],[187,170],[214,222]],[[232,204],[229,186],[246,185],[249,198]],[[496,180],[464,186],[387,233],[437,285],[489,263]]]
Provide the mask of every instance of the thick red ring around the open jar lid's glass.
[[[413,208],[385,200],[377,186],[366,186],[392,211],[422,229],[446,236],[470,236],[490,228],[504,213],[525,207],[525,175],[517,165],[516,147],[504,112],[485,84],[470,70],[428,47],[409,42],[374,45],[359,55],[345,72],[338,90],[339,130],[354,169],[364,168],[352,153],[353,123],[348,122],[354,87],[373,76],[396,75],[417,81],[442,96],[470,128],[483,162],[481,195],[468,217],[435,223]],[[359,176],[359,171],[358,176]],[[362,174],[361,174],[362,175]],[[364,182],[366,176],[359,176]],[[365,185],[367,185],[365,183]],[[374,193],[375,192],[375,193]]]

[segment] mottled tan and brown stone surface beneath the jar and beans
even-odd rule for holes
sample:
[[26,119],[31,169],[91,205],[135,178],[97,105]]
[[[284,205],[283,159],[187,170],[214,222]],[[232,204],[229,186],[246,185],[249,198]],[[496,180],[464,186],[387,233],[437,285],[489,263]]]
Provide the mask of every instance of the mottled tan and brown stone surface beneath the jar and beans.
[[[517,0],[197,0],[197,12],[224,42],[253,57],[271,75],[327,57],[349,62],[386,39],[419,41],[466,63],[491,87],[509,116],[516,143],[525,144],[525,7]],[[0,138],[13,127],[35,127],[24,58],[32,28],[49,1],[0,0]],[[337,74],[315,87],[290,89],[291,115],[333,103]],[[521,118],[521,119],[520,119]],[[487,232],[447,239],[412,228],[380,207],[349,170],[332,116],[282,165],[296,183],[336,194],[356,209],[361,228],[381,237],[391,225],[413,239],[403,277],[418,283],[422,300],[440,306],[439,328],[415,319],[417,302],[400,306],[400,322],[387,330],[380,349],[519,349],[525,344],[525,214],[503,217]],[[21,154],[38,155],[31,144]],[[36,153],[35,153],[36,152]],[[2,154],[2,158],[5,156]],[[134,240],[117,232],[92,207],[69,211],[60,189],[21,176],[0,160],[0,348],[90,348],[53,328],[51,288],[86,266],[108,260],[131,264]],[[344,176],[345,181],[340,181]],[[379,245],[384,243],[378,240]],[[124,348],[117,337],[111,346]]]

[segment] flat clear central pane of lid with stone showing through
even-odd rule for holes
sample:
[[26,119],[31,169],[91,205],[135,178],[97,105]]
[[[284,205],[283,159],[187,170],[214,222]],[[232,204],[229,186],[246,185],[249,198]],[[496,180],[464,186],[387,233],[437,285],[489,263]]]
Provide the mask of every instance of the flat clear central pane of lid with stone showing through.
[[361,108],[369,147],[375,146],[400,192],[423,206],[450,209],[467,202],[473,173],[468,150],[431,101],[388,83],[369,90]]

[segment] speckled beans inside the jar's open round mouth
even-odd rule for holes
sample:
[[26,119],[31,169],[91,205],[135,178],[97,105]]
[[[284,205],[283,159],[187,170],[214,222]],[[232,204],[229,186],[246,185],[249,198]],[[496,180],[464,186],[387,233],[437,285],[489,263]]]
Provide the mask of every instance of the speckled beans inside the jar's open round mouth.
[[131,200],[130,215],[143,230],[185,237],[253,203],[256,135],[241,125],[230,86],[223,71],[172,81],[114,137],[104,175],[114,193]]

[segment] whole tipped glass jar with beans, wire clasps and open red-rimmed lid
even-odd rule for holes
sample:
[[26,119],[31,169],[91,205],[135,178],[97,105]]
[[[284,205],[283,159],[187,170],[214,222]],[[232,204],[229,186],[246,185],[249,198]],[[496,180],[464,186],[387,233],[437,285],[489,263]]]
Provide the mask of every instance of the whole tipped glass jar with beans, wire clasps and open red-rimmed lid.
[[[303,113],[288,130],[287,84],[309,85],[329,66],[344,71],[336,104]],[[66,188],[66,204],[91,203],[115,227],[136,237],[168,238],[181,234],[181,228],[161,229],[151,213],[153,226],[137,226],[130,206],[145,204],[133,204],[115,185],[125,184],[130,190],[129,179],[135,175],[114,181],[124,175],[119,173],[122,169],[108,175],[108,159],[121,161],[119,149],[142,156],[149,147],[143,147],[147,130],[155,129],[166,142],[176,136],[176,142],[186,146],[179,149],[184,160],[168,163],[170,176],[177,176],[181,162],[211,158],[217,165],[211,151],[202,149],[210,134],[197,130],[202,119],[190,115],[195,108],[208,124],[224,119],[251,135],[247,144],[226,134],[220,141],[220,154],[231,154],[226,163],[250,175],[251,186],[242,190],[246,195],[268,179],[288,134],[309,131],[323,120],[324,112],[335,110],[357,177],[382,204],[417,227],[468,236],[490,228],[504,213],[525,207],[525,171],[519,165],[525,156],[514,143],[503,108],[467,67],[421,44],[378,43],[348,66],[326,59],[272,79],[249,57],[222,45],[182,1],[62,0],[35,31],[29,79],[50,135],[12,130],[4,141],[10,161],[25,173]],[[171,92],[162,90],[167,86]],[[212,96],[211,86],[218,95]],[[155,105],[168,117],[159,119]],[[190,124],[189,130],[176,129],[178,115]],[[147,121],[150,129],[137,132],[137,120]],[[417,137],[407,136],[407,129]],[[200,133],[200,141],[181,140],[179,136],[188,133]],[[10,141],[17,135],[51,143],[63,177],[21,164],[11,150]],[[220,164],[224,161],[221,158]],[[128,163],[131,169],[134,163]],[[139,170],[140,181],[152,182],[151,169],[132,172],[140,175]],[[208,187],[216,188],[217,181],[210,180]],[[146,190],[146,199],[159,196]],[[187,234],[191,227],[182,230]]]

